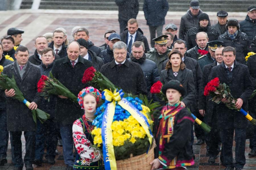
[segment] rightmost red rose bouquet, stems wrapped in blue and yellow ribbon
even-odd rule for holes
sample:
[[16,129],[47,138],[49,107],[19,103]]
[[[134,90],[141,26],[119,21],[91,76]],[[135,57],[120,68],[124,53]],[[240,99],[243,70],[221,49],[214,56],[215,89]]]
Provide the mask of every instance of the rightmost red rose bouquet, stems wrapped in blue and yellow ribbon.
[[228,109],[235,109],[237,111],[240,111],[245,118],[247,118],[253,125],[256,125],[256,120],[253,119],[245,110],[237,109],[236,108],[236,102],[237,99],[235,99],[231,95],[230,88],[226,85],[226,83],[220,83],[220,80],[218,77],[215,77],[214,79],[210,80],[207,85],[205,86],[204,95],[210,95],[212,97],[212,101],[219,104],[222,99],[226,98],[227,102],[225,103],[226,107]]

